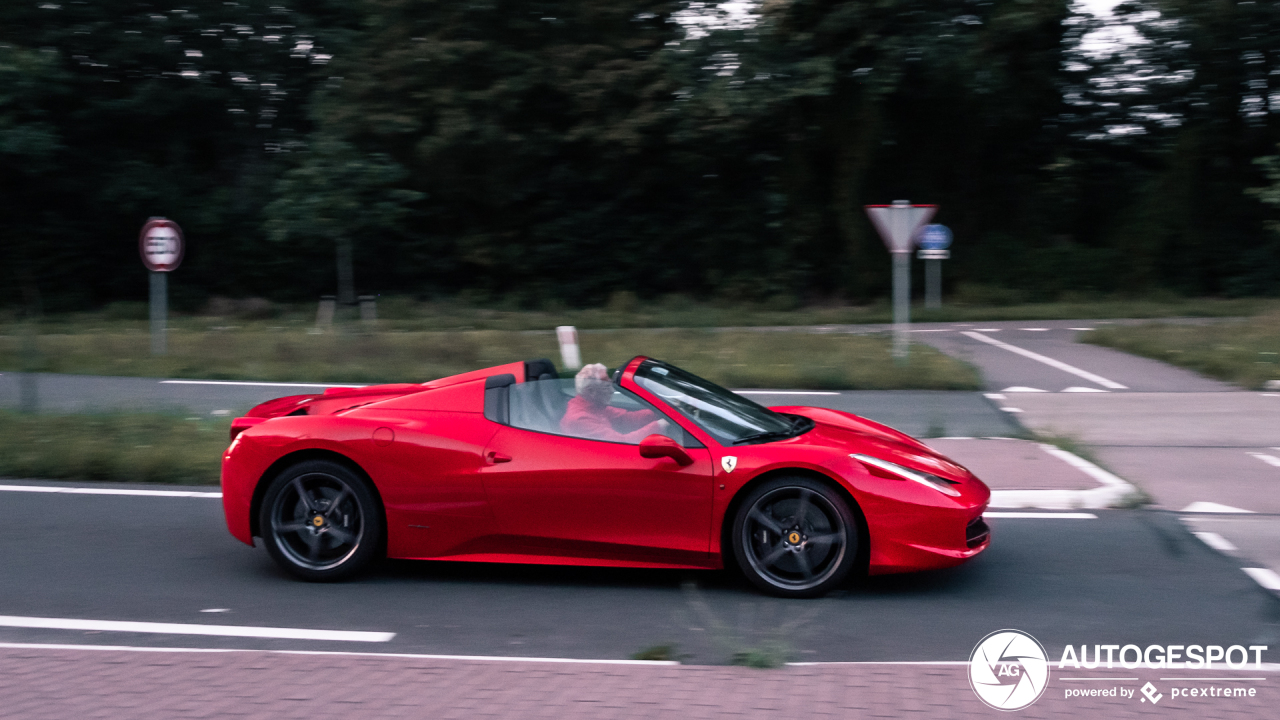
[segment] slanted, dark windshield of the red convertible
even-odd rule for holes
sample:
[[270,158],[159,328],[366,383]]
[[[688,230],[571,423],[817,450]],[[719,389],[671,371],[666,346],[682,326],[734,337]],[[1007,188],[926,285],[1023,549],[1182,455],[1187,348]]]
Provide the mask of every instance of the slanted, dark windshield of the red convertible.
[[791,437],[809,429],[675,365],[645,360],[636,383],[657,395],[722,445]]

